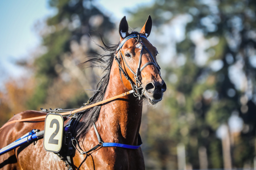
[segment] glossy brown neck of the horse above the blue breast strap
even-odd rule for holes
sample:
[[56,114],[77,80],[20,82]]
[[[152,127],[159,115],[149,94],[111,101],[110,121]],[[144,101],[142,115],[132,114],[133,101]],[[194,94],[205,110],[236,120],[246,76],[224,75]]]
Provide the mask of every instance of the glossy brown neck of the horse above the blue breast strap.
[[[126,81],[126,79],[123,79]],[[104,99],[127,92],[119,76],[119,68],[115,61],[110,72],[109,83]],[[102,131],[102,139],[105,142],[123,144],[137,144],[137,137],[141,124],[142,100],[138,100],[132,94],[101,106],[100,115],[96,124]]]

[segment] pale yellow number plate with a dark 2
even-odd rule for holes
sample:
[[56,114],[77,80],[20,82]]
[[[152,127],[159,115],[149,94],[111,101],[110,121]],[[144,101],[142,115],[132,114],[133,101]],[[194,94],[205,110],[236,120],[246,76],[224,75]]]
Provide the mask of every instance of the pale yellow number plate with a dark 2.
[[44,148],[46,151],[59,152],[63,136],[63,117],[48,113],[45,118]]

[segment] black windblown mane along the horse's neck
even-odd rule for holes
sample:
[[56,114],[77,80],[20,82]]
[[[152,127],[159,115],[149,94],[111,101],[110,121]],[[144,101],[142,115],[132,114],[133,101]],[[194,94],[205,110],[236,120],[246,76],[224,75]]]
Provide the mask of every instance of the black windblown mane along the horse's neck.
[[[139,34],[138,32],[132,31],[129,33],[129,35],[132,34]],[[90,104],[97,103],[99,101],[102,101],[107,89],[107,85],[109,82],[109,76],[110,76],[110,70],[114,59],[114,54],[116,52],[116,49],[118,47],[117,45],[113,44],[106,44],[103,41],[103,38],[101,37],[101,41],[103,43],[103,46],[98,45],[101,49],[103,49],[107,54],[100,55],[96,54],[96,56],[92,56],[92,59],[88,59],[82,64],[85,63],[93,63],[91,65],[92,67],[100,67],[105,72],[104,76],[102,76],[101,80],[99,81],[97,85],[97,90],[95,91],[94,95],[92,96],[92,100]],[[76,137],[83,137],[88,132],[89,128],[93,125],[94,122],[97,121],[99,113],[101,110],[101,105],[94,106],[92,108],[89,108],[87,110],[82,111],[81,114],[81,122],[78,124]]]

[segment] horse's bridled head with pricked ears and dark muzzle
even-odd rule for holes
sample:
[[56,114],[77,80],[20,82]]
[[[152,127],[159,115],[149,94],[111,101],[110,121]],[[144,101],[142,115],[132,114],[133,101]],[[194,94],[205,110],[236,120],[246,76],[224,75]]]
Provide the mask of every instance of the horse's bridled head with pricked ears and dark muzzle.
[[[123,17],[119,24],[120,44],[115,58],[119,62],[121,72],[127,80],[122,81],[128,89],[142,89],[137,96],[145,96],[149,103],[156,104],[162,100],[166,91],[166,84],[160,73],[160,67],[156,62],[157,49],[148,41],[152,27],[149,15],[140,32],[128,32],[129,26]],[[117,57],[118,56],[118,57]],[[118,59],[117,59],[118,58]],[[120,68],[121,67],[121,68]]]

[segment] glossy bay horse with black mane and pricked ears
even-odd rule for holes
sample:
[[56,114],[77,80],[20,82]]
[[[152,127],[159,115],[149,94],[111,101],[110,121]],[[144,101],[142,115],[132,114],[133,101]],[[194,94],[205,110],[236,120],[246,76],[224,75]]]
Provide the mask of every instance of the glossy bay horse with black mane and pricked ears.
[[[79,119],[73,129],[74,145],[70,169],[145,169],[143,153],[137,149],[122,147],[97,147],[101,141],[137,146],[140,143],[139,129],[142,119],[142,101],[156,104],[162,100],[166,84],[161,78],[156,62],[157,49],[148,41],[152,20],[149,15],[140,32],[128,31],[128,23],[123,17],[119,24],[119,45],[104,48],[109,52],[98,58],[89,59],[105,64],[106,74],[98,84],[90,103],[134,90],[134,95],[126,95],[78,112]],[[115,60],[116,61],[115,61]],[[90,105],[90,104],[89,104]],[[13,116],[9,121],[45,116],[45,112],[27,110]],[[8,121],[8,122],[9,122]],[[68,120],[65,121],[67,124]],[[44,119],[16,122],[0,130],[0,148],[10,144],[32,129],[44,130]],[[96,129],[96,130],[95,130]],[[97,133],[96,133],[97,131]],[[96,135],[95,135],[96,133]],[[100,135],[100,137],[99,137]],[[73,150],[72,149],[72,150]],[[3,169],[67,169],[64,158],[46,151],[43,139],[27,143],[0,156]]]

